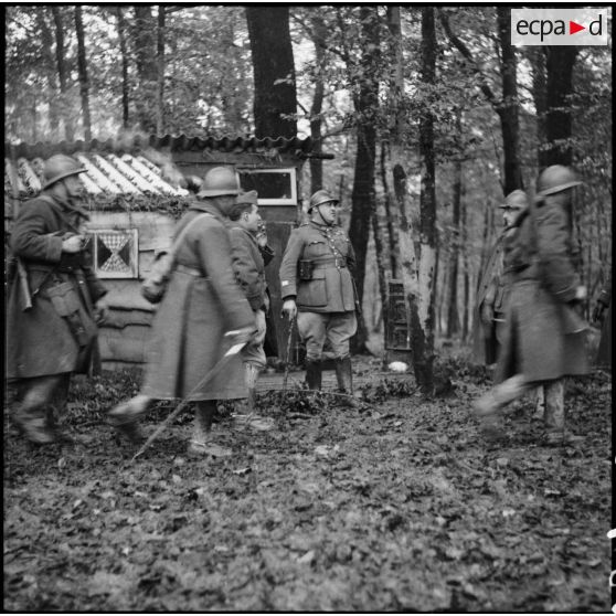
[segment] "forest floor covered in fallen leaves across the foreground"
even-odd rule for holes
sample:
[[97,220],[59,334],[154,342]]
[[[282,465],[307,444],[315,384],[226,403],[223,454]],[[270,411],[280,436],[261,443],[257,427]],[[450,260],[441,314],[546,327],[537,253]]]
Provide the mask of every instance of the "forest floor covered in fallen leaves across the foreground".
[[486,440],[482,372],[449,371],[436,400],[411,376],[364,387],[361,408],[262,394],[272,429],[224,407],[232,455],[197,460],[188,411],[131,461],[104,422],[130,372],[72,385],[86,443],[32,447],[4,413],[4,609],[607,612],[610,376],[569,384],[584,442],[545,447],[531,400]]

